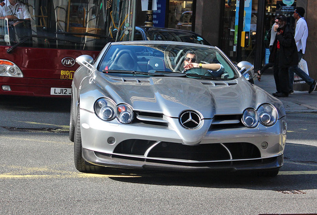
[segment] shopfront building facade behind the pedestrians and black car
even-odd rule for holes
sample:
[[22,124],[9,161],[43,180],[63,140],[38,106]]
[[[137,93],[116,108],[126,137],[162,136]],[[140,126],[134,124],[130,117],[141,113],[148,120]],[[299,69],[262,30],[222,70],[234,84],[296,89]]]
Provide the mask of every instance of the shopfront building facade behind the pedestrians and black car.
[[[211,44],[218,46],[233,61],[249,61],[259,70],[268,62],[269,40],[276,15],[288,17],[295,29],[293,17],[297,6],[305,8],[309,37],[304,59],[310,76],[317,79],[317,0],[157,0],[153,13],[154,26],[192,30]],[[243,7],[243,10],[240,10]],[[137,6],[138,7],[138,6]],[[137,25],[142,25],[145,11],[139,11]],[[297,85],[295,90],[307,90],[308,85]]]

